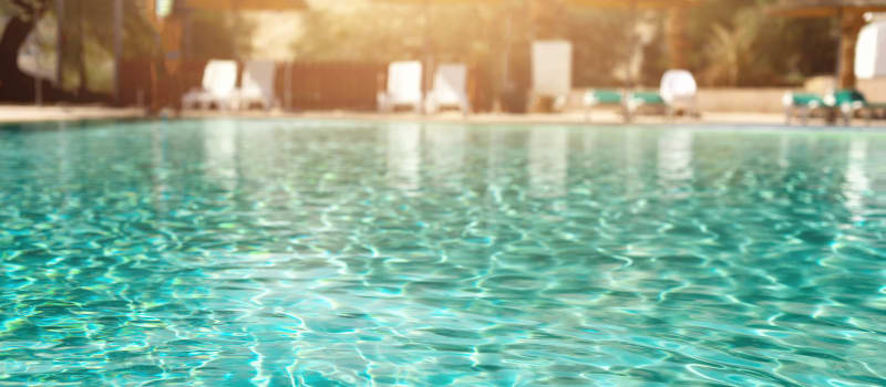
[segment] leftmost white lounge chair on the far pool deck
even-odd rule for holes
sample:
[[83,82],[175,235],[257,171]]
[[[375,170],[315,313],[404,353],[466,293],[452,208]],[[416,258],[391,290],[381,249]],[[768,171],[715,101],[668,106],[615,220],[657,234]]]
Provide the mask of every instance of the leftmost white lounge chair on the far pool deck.
[[212,60],[203,70],[203,88],[195,88],[182,96],[184,107],[218,108],[236,105],[237,62]]

